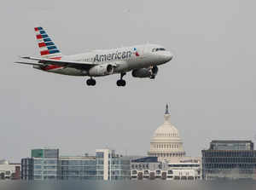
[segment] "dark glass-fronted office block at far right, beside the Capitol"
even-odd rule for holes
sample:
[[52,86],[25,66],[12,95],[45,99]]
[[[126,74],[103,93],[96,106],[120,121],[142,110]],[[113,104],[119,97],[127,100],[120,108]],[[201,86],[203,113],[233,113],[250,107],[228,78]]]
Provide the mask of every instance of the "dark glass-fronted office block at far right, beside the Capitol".
[[[225,149],[226,148],[226,149]],[[202,178],[236,177],[255,173],[256,151],[252,141],[212,141],[210,149],[202,151]],[[239,176],[240,175],[240,176]]]

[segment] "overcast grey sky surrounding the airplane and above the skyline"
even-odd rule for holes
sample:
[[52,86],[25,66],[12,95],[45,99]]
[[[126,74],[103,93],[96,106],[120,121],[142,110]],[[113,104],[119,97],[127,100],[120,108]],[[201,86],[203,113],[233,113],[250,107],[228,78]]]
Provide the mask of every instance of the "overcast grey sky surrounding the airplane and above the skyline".
[[[187,155],[216,139],[256,139],[255,1],[2,0],[0,159],[20,161],[30,149],[62,155],[146,155],[166,102]],[[119,75],[62,76],[14,64],[39,55],[34,26],[44,26],[64,55],[159,43],[174,60],[155,80]]]

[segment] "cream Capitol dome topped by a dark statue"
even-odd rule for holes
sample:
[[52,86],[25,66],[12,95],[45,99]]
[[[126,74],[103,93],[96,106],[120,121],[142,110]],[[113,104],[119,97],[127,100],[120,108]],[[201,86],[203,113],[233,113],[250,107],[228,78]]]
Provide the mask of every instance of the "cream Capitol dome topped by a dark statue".
[[170,118],[168,105],[166,105],[164,124],[154,131],[148,156],[158,157],[159,161],[178,162],[185,156],[185,152],[183,141],[177,128],[171,124]]

